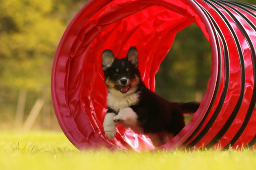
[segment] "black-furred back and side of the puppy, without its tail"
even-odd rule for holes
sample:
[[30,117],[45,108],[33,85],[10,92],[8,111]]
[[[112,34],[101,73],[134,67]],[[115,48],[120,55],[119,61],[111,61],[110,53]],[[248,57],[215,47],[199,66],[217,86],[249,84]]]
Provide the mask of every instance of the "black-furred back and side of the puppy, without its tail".
[[141,82],[140,101],[130,106],[138,115],[144,133],[166,131],[177,135],[185,126],[183,114],[178,105],[158,96]]

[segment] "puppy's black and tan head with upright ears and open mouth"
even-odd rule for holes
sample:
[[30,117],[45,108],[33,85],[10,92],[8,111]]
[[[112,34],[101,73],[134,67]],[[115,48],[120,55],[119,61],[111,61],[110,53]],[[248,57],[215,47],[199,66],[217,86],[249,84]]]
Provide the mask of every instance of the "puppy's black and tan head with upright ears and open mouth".
[[102,53],[102,68],[108,91],[119,95],[132,94],[140,82],[138,51],[130,47],[127,57],[117,59],[111,50]]

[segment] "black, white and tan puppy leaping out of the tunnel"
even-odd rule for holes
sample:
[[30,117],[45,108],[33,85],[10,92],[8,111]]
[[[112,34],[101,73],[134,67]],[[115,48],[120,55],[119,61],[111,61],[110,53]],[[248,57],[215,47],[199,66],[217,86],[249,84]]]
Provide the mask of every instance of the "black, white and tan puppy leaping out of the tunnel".
[[117,59],[111,50],[102,53],[102,69],[108,88],[103,127],[108,139],[123,124],[138,134],[145,134],[158,147],[177,135],[185,126],[183,113],[195,113],[199,103],[169,102],[149,90],[138,69],[138,51],[130,47],[126,58]]

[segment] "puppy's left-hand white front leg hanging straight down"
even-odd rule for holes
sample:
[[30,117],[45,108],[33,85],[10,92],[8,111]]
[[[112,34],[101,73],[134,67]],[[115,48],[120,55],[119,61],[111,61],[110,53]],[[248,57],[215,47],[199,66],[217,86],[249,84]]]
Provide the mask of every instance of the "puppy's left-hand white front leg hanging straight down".
[[108,137],[108,139],[114,139],[116,136],[116,122],[113,121],[115,116],[115,113],[107,113],[105,115],[103,127],[105,130],[105,135]]

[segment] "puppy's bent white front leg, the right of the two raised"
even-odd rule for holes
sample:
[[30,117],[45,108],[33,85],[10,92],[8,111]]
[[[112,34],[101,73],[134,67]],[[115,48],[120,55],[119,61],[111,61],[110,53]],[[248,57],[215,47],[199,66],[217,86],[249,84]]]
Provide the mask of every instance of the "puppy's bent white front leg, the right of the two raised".
[[134,127],[137,125],[137,114],[132,110],[132,108],[122,109],[115,117],[113,117],[114,122],[123,123],[125,127]]

